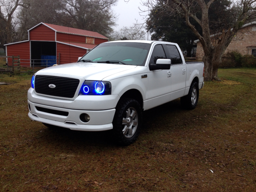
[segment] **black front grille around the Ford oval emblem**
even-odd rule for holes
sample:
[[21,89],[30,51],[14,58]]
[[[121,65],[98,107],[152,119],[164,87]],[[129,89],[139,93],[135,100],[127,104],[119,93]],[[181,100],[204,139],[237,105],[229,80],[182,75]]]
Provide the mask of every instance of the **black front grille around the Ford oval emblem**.
[[[80,80],[74,78],[36,75],[35,90],[36,93],[73,98]],[[50,88],[49,85],[54,84],[55,88]]]

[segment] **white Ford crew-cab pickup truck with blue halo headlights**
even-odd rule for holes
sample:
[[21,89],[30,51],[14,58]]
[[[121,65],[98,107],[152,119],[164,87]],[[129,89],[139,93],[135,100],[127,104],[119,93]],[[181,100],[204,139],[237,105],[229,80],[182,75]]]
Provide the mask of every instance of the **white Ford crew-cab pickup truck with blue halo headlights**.
[[161,41],[102,43],[76,63],[42,69],[28,90],[28,116],[71,130],[112,130],[122,145],[140,132],[142,112],[180,98],[194,109],[204,63],[185,62],[179,46]]

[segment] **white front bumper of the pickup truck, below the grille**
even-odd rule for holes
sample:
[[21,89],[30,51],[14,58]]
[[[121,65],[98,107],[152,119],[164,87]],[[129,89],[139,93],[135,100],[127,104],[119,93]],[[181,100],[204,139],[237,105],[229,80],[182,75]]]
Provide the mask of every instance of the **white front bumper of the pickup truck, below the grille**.
[[[113,128],[112,121],[116,109],[108,110],[74,110],[68,108],[60,108],[37,104],[28,100],[29,113],[28,116],[31,120],[47,123],[55,126],[69,128],[71,130],[82,131],[103,131]],[[42,112],[37,110],[36,107],[57,110],[68,113],[67,116],[52,114],[51,112]],[[80,115],[86,113],[90,116],[89,122],[82,122]]]

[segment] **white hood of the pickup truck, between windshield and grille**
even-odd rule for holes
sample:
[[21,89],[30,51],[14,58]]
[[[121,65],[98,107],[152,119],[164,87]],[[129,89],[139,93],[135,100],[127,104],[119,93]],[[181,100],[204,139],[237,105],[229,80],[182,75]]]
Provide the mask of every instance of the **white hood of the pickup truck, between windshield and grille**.
[[122,64],[106,64],[106,63],[69,63],[58,66],[52,66],[42,69],[36,74],[54,75],[63,74],[70,76],[80,76],[85,80],[102,80],[107,76],[136,68],[134,65],[122,65]]

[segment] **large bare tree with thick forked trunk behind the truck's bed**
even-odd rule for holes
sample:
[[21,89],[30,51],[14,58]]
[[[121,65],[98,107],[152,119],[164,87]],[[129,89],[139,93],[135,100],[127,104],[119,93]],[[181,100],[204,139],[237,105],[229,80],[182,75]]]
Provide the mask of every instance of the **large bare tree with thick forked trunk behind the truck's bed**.
[[[218,78],[218,67],[227,46],[246,23],[254,18],[256,10],[256,0],[237,0],[232,2],[230,7],[222,13],[220,20],[209,21],[209,8],[217,0],[146,0],[144,5],[149,9],[154,8],[155,4],[160,5],[157,14],[164,16],[167,12],[173,15],[181,15],[186,20],[186,25],[192,30],[200,40],[204,50],[204,65],[206,81],[220,80]],[[226,22],[226,20],[232,20]],[[202,30],[200,33],[191,20],[195,20]],[[228,23],[228,24],[227,24]],[[216,30],[211,31],[210,25],[215,25]],[[211,36],[211,32],[215,35]]]

